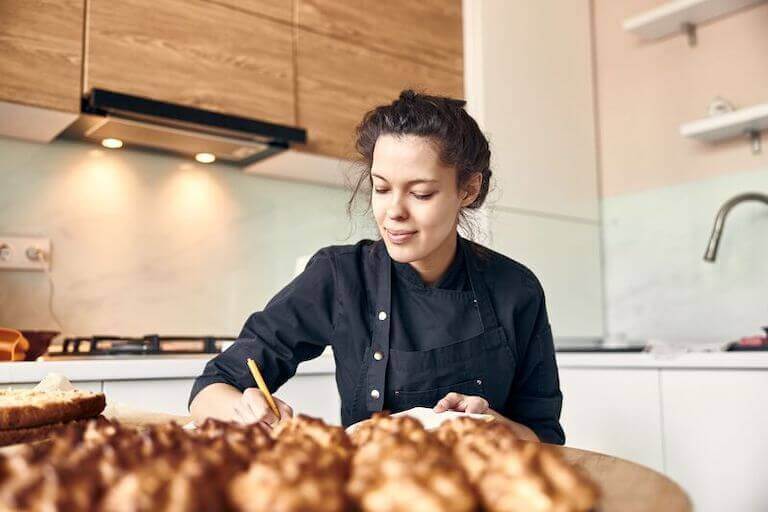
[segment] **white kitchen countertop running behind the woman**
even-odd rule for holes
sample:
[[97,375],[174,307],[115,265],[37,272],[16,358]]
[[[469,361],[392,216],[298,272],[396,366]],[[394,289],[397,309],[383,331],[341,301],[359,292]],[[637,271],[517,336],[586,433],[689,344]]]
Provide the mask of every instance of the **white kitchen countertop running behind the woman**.
[[[47,361],[0,363],[0,383],[38,382],[49,373],[72,381],[192,379],[200,375],[209,355],[101,356]],[[653,353],[559,352],[560,368],[768,369],[768,352]],[[329,374],[335,369],[330,351],[299,365],[297,375]]]

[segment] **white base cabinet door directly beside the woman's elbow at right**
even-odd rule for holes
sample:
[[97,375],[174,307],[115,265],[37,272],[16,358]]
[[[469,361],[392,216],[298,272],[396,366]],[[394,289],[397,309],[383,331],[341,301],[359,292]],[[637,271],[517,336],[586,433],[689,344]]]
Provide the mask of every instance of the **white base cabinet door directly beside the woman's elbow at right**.
[[664,470],[657,369],[560,369],[566,445]]

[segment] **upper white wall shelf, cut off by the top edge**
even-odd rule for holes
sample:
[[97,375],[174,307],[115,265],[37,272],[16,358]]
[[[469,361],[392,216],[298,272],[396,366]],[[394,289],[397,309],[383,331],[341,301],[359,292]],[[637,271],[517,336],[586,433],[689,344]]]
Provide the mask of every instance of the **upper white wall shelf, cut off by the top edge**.
[[674,0],[624,21],[623,27],[641,39],[659,39],[689,32],[686,27],[738,11],[766,0]]

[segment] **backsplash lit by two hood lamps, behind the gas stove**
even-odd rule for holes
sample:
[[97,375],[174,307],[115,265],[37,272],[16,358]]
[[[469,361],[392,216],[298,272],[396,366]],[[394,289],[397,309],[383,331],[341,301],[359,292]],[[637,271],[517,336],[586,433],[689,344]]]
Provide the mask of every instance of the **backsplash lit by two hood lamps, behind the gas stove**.
[[239,332],[297,258],[370,236],[346,190],[224,165],[0,137],[0,234],[52,242],[42,272],[0,272],[0,325],[67,334]]

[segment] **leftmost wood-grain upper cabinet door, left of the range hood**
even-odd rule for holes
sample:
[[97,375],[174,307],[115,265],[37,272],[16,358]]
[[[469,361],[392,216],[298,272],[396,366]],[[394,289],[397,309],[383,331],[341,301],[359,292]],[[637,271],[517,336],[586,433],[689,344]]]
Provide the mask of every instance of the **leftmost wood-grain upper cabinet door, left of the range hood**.
[[0,0],[0,101],[80,111],[84,0]]

